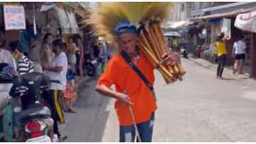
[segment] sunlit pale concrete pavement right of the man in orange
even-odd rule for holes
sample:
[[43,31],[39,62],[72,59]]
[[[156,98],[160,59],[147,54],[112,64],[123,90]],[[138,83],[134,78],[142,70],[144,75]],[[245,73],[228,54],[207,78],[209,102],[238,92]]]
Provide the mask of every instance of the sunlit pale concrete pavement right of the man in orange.
[[215,79],[215,71],[183,60],[183,82],[164,86],[159,97],[154,141],[255,141],[255,84],[251,79]]

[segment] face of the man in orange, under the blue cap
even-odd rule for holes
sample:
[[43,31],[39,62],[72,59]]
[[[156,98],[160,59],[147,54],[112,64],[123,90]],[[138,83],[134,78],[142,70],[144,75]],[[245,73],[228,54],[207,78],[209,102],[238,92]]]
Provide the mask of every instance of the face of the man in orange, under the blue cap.
[[119,37],[122,50],[127,53],[133,53],[136,50],[137,35],[124,33]]

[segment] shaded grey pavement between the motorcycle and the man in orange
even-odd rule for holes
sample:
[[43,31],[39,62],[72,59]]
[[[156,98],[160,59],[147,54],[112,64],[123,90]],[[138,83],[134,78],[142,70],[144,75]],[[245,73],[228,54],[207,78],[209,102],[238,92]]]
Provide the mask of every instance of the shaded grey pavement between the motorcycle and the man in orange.
[[[66,123],[61,132],[67,135],[66,142],[99,142],[117,141],[114,135],[107,132],[118,131],[117,119],[113,109],[113,101],[95,92],[96,78],[85,78],[84,89],[78,94],[75,102],[77,113],[65,113]],[[108,130],[108,131],[106,131]]]

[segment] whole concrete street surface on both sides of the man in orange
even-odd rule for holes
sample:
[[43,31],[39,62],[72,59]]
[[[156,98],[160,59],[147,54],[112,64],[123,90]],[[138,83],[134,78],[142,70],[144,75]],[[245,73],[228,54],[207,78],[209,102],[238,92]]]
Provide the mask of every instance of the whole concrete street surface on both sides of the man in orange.
[[[167,86],[156,72],[154,138],[162,141],[255,141],[256,82],[233,79],[228,70],[215,79],[213,70],[182,60],[187,70],[183,82]],[[68,113],[63,134],[66,141],[118,141],[119,129],[113,100],[94,91],[95,79],[87,79],[75,104],[78,113]],[[66,132],[66,133],[65,133]]]

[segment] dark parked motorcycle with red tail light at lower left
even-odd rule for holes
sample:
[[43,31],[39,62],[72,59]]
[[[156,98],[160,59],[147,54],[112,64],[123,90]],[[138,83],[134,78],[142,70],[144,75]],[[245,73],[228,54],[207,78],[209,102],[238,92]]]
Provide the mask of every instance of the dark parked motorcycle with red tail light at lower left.
[[[50,109],[40,100],[42,90],[48,89],[52,82],[59,83],[38,72],[21,76],[12,76],[0,72],[1,84],[13,84],[9,95],[14,100],[14,120],[17,126],[20,127],[18,141],[57,141],[55,135],[53,135],[53,119],[50,117]],[[29,97],[26,106],[18,102],[21,101],[22,96]]]

